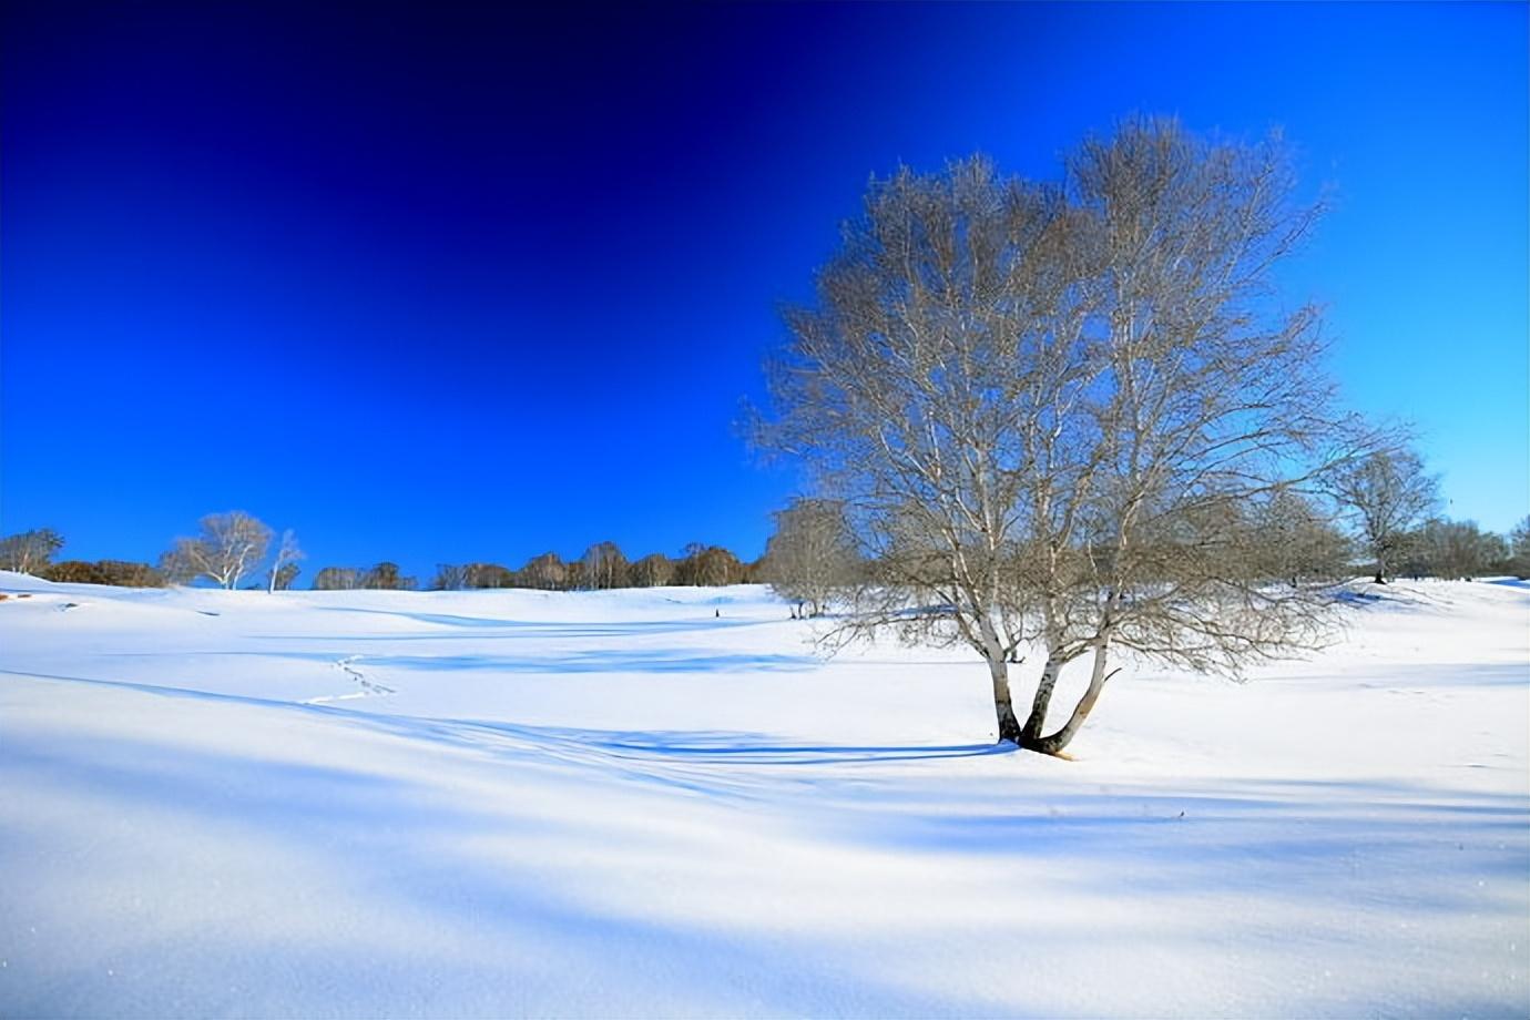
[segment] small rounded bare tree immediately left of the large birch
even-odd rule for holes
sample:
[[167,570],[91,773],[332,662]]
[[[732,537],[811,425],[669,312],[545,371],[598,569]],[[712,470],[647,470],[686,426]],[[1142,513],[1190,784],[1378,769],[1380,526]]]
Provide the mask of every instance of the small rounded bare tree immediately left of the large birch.
[[776,511],[776,534],[765,544],[763,577],[797,615],[817,616],[829,596],[855,580],[855,537],[835,500],[794,499]]

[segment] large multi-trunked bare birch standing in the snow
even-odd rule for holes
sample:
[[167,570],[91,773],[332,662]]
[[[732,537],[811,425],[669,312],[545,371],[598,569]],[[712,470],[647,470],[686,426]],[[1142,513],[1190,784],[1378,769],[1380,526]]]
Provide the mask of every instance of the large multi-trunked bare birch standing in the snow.
[[[981,158],[874,180],[788,313],[768,448],[843,499],[872,569],[845,633],[894,627],[988,664],[1001,740],[1060,752],[1131,648],[1198,670],[1320,639],[1325,599],[1268,584],[1252,500],[1349,454],[1317,313],[1270,268],[1316,216],[1278,139],[1170,121],[1089,141],[1059,187]],[[1360,442],[1356,439],[1354,442]],[[1008,664],[1045,653],[1017,719]],[[1068,720],[1062,668],[1091,658]]]

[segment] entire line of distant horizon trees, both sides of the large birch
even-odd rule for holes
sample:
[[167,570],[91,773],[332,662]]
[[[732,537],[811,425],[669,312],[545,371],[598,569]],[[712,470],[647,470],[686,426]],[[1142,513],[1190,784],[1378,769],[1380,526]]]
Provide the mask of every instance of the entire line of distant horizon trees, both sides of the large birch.
[[[1507,573],[1530,578],[1530,517],[1509,534],[1483,531],[1470,520],[1435,515],[1438,483],[1417,454],[1383,453],[1340,473],[1322,494],[1274,492],[1252,500],[1242,521],[1262,541],[1242,551],[1222,549],[1227,570],[1291,584],[1351,577],[1369,569],[1377,583],[1395,577],[1473,580]],[[295,534],[280,538],[242,511],[211,514],[193,538],[176,538],[158,566],[130,560],[57,560],[64,538],[38,528],[0,538],[0,569],[50,581],[165,587],[199,580],[219,587],[294,587],[304,558]],[[1166,549],[1167,555],[1169,549]],[[1241,563],[1235,563],[1241,561]],[[1024,569],[1014,552],[1013,569]],[[614,541],[589,546],[577,560],[555,552],[532,557],[519,569],[499,563],[442,563],[424,587],[430,590],[536,589],[571,592],[620,587],[727,586],[768,583],[794,604],[794,613],[817,616],[848,589],[878,577],[858,547],[845,505],[796,499],[776,512],[765,555],[744,561],[722,546],[692,543],[679,557],[661,552],[627,560]],[[246,584],[246,581],[259,581]],[[314,573],[317,592],[416,590],[419,580],[393,561],[370,567],[326,566]]]

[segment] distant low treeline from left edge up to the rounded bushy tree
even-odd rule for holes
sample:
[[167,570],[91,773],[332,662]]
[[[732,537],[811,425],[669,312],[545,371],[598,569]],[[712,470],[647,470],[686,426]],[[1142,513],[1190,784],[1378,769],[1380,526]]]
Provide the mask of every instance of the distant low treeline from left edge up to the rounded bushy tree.
[[[153,566],[125,560],[57,560],[63,546],[63,535],[50,528],[9,535],[0,540],[0,569],[76,584],[165,587],[207,581],[225,589],[278,592],[295,586],[304,558],[291,529],[277,537],[271,526],[243,511],[203,517],[194,537],[176,538]],[[545,552],[519,569],[499,563],[442,563],[425,587],[568,592],[666,584],[725,586],[762,580],[762,561],[745,563],[722,546],[692,543],[678,557],[655,552],[627,560],[617,543],[601,541],[577,560]],[[370,567],[321,567],[314,573],[312,587],[318,592],[415,590],[421,584],[418,578],[404,575],[396,563],[384,560]]]

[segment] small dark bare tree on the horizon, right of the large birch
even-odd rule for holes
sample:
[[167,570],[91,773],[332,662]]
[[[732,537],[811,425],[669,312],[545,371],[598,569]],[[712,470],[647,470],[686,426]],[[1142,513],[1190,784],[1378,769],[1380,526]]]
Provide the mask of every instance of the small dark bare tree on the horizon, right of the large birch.
[[1345,465],[1331,476],[1328,491],[1375,560],[1377,584],[1391,577],[1408,532],[1440,505],[1438,479],[1411,450],[1380,450]]

